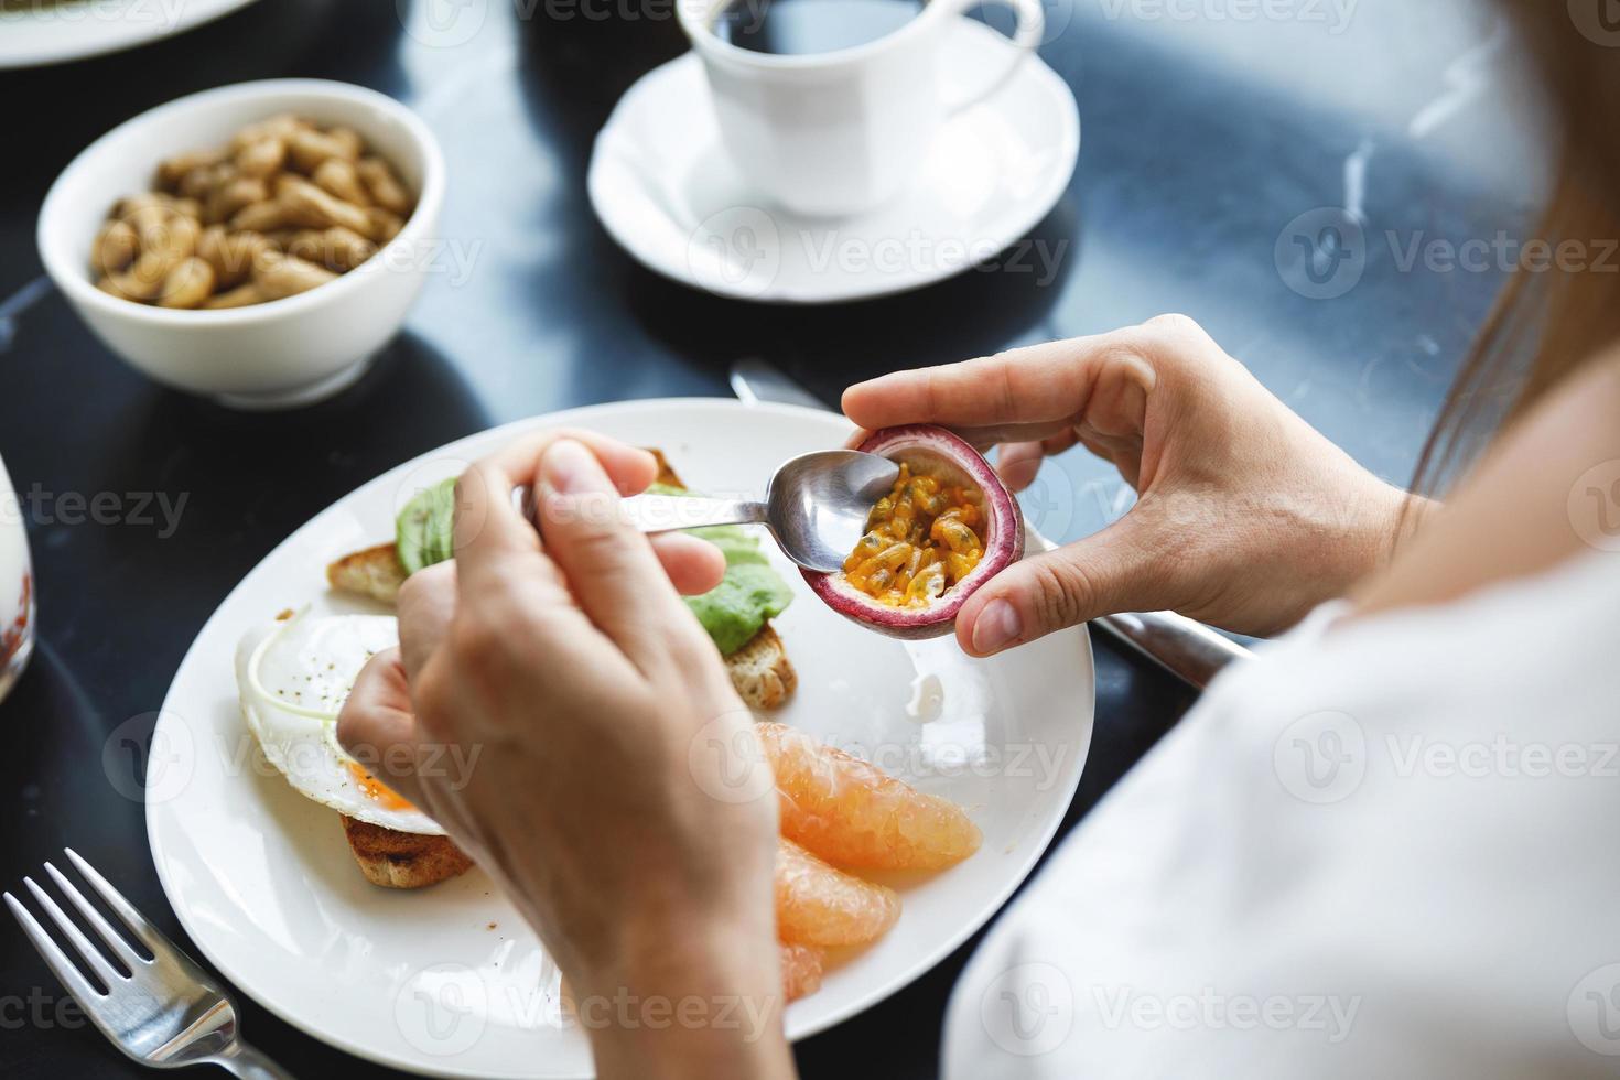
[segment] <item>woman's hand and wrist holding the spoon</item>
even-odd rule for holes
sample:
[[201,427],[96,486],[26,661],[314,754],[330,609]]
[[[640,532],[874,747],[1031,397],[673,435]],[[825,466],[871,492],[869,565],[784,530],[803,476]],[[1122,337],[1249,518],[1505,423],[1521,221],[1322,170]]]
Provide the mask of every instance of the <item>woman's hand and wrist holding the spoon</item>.
[[[752,717],[671,585],[711,588],[723,560],[625,525],[619,495],[651,457],[578,439],[522,440],[462,478],[457,559],[405,583],[400,648],[361,672],[339,740],[520,907],[601,1075],[791,1075],[776,805],[729,795],[714,748],[747,753]],[[512,508],[520,483],[544,544]],[[436,764],[447,746],[465,776]]]

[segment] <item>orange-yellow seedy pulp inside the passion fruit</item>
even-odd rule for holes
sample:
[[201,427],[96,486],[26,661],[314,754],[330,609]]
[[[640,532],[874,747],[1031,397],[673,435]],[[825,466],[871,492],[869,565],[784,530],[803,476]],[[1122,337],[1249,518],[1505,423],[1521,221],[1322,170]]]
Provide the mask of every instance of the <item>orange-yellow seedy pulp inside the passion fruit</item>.
[[927,607],[985,557],[975,531],[983,520],[980,491],[915,476],[902,461],[894,489],[867,515],[844,576],[889,607]]

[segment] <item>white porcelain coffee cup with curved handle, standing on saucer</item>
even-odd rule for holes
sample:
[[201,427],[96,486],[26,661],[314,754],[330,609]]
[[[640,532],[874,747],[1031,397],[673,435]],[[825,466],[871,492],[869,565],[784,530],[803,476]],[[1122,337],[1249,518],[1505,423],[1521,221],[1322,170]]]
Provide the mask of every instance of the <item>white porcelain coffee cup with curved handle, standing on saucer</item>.
[[969,84],[966,92],[946,89],[940,53],[951,23],[978,0],[930,0],[891,34],[810,55],[723,40],[713,28],[726,0],[677,0],[676,10],[703,58],[721,138],[742,175],[789,210],[838,217],[899,194],[946,118],[998,91],[1040,44],[1040,0],[988,2],[1013,8],[1017,29],[1001,70],[951,73],[953,84]]

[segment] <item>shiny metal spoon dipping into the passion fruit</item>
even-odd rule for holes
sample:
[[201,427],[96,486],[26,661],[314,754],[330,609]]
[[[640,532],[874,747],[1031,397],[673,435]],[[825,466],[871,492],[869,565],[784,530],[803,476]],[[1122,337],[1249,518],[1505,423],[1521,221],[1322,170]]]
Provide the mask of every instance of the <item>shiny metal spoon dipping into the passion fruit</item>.
[[[784,461],[765,502],[708,495],[632,495],[620,502],[630,525],[643,533],[672,533],[708,525],[763,525],[805,570],[834,573],[867,531],[872,505],[889,494],[901,466],[859,450],[818,450]],[[523,517],[535,520],[533,492],[512,492]]]

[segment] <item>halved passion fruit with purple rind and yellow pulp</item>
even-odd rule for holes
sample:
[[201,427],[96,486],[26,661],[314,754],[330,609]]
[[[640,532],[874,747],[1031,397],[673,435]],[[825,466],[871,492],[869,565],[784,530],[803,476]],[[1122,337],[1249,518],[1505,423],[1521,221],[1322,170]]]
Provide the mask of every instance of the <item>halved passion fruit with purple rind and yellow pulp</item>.
[[944,427],[872,432],[855,447],[901,466],[838,573],[804,570],[828,607],[893,638],[938,638],[978,586],[1024,557],[1024,515],[995,468]]

